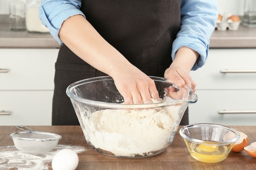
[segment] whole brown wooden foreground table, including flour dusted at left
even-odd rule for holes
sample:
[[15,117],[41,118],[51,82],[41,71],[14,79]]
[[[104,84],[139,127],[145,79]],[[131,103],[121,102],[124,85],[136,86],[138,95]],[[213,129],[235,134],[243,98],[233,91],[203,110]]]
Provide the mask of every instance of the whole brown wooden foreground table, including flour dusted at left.
[[[256,126],[231,126],[238,131],[247,134],[249,144],[256,141]],[[35,162],[39,162],[40,167],[52,170],[52,158],[49,155],[56,153],[60,148],[69,146],[70,148],[84,148],[78,153],[79,164],[76,170],[255,170],[256,158],[249,156],[245,151],[230,152],[228,157],[219,163],[203,163],[193,159],[186,145],[176,133],[173,143],[159,155],[140,159],[121,159],[108,157],[99,154],[88,146],[83,136],[80,126],[29,126],[35,131],[52,132],[62,136],[57,147],[45,154],[24,155],[18,151],[9,137],[11,133],[18,132],[15,126],[0,126],[0,170],[35,170]],[[179,127],[179,129],[181,126]],[[13,155],[12,155],[13,154]],[[20,155],[14,157],[15,155]],[[33,155],[33,154],[32,154]],[[36,157],[36,158],[35,158]],[[46,159],[48,158],[48,159]],[[17,160],[16,160],[17,159]],[[40,160],[42,159],[42,160]],[[18,161],[20,160],[20,161]],[[24,160],[24,162],[21,162]],[[45,162],[43,161],[45,160]],[[20,163],[21,162],[21,163]],[[31,163],[32,162],[32,163]],[[22,169],[22,170],[23,170]],[[40,169],[40,168],[39,168]],[[38,168],[37,168],[38,170]],[[40,169],[44,170],[44,169]]]

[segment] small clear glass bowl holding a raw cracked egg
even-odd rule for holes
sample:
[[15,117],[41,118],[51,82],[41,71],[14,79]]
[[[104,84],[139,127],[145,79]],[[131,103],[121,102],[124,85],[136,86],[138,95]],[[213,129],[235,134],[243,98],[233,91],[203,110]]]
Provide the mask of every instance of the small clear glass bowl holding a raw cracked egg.
[[226,159],[239,132],[218,124],[191,124],[180,129],[190,155],[201,162],[216,163]]

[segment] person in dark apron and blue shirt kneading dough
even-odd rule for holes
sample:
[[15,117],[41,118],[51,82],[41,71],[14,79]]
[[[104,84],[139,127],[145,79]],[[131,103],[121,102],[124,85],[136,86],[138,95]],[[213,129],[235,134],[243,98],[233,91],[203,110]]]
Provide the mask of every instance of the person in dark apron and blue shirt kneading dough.
[[[41,0],[39,17],[61,44],[52,125],[79,124],[67,86],[110,75],[126,103],[158,99],[148,75],[195,90],[218,16],[215,0]],[[181,124],[188,124],[188,113]]]

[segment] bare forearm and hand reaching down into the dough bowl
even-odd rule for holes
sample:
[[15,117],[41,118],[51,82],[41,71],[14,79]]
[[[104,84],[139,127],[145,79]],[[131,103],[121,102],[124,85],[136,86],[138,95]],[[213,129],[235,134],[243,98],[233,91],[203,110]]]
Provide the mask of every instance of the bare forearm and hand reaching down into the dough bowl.
[[159,100],[153,79],[106,42],[82,15],[65,20],[59,37],[82,60],[110,75],[126,104],[151,103],[151,98]]

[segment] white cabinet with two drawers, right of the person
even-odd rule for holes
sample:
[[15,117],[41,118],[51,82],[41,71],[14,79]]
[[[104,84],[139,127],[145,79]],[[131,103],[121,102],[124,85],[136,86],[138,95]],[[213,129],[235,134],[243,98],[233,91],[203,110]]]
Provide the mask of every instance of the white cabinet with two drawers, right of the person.
[[191,77],[198,102],[189,105],[190,124],[256,125],[256,49],[210,49]]

